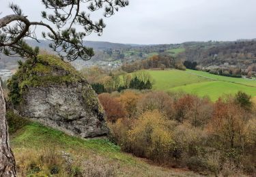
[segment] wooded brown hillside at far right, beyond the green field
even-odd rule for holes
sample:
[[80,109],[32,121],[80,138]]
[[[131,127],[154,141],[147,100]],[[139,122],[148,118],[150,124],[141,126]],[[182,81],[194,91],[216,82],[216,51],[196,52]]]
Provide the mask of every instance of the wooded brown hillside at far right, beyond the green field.
[[240,39],[236,42],[186,42],[180,59],[197,61],[200,65],[251,65],[256,63],[255,39]]

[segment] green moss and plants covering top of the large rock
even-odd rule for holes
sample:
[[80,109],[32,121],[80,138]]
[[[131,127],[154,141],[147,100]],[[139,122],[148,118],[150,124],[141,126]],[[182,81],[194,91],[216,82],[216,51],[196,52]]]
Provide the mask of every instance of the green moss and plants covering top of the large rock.
[[54,55],[38,55],[38,59],[28,59],[21,63],[16,74],[8,80],[9,98],[14,105],[22,101],[21,95],[27,88],[86,82],[70,63]]

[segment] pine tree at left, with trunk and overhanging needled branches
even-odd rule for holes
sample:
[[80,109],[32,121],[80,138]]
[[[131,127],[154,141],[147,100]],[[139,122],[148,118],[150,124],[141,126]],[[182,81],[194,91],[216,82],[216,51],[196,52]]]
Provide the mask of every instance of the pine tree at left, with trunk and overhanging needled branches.
[[[25,39],[39,42],[35,33],[36,27],[44,28],[42,37],[50,42],[59,57],[65,61],[78,58],[89,60],[94,55],[92,48],[86,47],[83,39],[95,32],[102,35],[106,25],[102,18],[93,22],[89,12],[104,7],[104,16],[110,17],[119,7],[129,4],[128,0],[42,0],[46,11],[41,12],[42,19],[29,20],[18,5],[10,4],[13,14],[0,18],[0,52],[9,56],[24,58],[36,57],[39,48],[31,48]],[[76,26],[83,30],[77,31]],[[0,84],[0,176],[16,176],[15,161],[9,146],[7,125],[5,120],[5,101]]]

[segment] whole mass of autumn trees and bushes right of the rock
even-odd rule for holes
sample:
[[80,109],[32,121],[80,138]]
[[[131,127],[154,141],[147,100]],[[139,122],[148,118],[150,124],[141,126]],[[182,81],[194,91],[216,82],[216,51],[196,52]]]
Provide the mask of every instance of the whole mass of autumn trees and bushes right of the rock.
[[[256,172],[256,114],[244,93],[216,103],[159,91],[99,97],[110,116],[111,140],[126,152],[216,176]],[[107,108],[110,100],[119,107]]]

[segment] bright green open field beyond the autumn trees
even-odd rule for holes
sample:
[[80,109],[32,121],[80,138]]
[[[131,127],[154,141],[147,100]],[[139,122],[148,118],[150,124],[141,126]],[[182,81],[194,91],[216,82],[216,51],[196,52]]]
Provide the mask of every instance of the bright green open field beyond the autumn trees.
[[238,91],[256,96],[256,81],[244,78],[230,78],[225,76],[216,76],[203,71],[193,71],[187,69],[167,70],[167,71],[149,71],[154,79],[155,90],[162,91],[184,91],[198,95],[199,97],[210,97],[216,101],[225,94],[236,94]]

